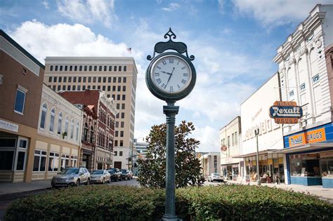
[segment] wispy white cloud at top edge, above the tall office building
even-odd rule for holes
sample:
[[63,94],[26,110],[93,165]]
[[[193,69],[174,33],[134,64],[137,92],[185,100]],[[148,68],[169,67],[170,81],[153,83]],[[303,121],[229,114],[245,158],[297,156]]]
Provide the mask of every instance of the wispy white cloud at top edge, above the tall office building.
[[61,15],[83,24],[102,22],[110,27],[117,20],[114,0],[59,0],[57,6]]

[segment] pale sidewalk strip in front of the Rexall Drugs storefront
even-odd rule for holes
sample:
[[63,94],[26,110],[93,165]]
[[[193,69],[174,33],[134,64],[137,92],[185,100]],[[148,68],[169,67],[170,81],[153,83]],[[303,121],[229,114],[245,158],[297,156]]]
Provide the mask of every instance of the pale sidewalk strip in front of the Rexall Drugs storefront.
[[[256,182],[238,182],[238,181],[230,181],[227,180],[228,183],[234,183],[234,184],[242,184],[242,185],[256,185]],[[293,190],[294,192],[303,192],[303,193],[309,193],[316,196],[319,196],[321,199],[327,199],[330,202],[333,203],[333,189],[329,188],[322,188],[322,186],[303,186],[303,185],[285,185],[285,184],[273,184],[273,183],[262,183],[262,186],[268,186],[268,187],[277,187],[280,189],[285,190]]]

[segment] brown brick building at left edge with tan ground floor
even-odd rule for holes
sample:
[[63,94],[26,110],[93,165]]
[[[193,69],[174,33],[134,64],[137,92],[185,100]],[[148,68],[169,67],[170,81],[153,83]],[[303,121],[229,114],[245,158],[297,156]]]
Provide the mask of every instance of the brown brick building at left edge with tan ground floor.
[[44,65],[0,29],[0,182],[30,182]]

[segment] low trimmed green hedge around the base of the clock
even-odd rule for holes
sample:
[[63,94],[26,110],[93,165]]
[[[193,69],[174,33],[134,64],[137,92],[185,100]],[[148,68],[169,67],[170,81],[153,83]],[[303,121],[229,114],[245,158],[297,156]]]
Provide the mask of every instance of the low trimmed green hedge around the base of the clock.
[[[332,220],[333,205],[270,187],[220,185],[176,190],[183,220]],[[11,203],[5,220],[159,220],[164,190],[90,185],[57,189]]]

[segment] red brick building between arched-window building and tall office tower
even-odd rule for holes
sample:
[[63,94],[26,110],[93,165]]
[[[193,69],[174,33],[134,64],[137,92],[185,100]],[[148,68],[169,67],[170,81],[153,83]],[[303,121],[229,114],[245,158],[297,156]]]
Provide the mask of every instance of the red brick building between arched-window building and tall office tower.
[[[91,122],[83,124],[84,133],[81,138],[83,142],[94,148],[86,148],[80,163],[84,165],[83,159],[85,159],[88,162],[89,160],[93,161],[93,169],[112,168],[115,154],[113,149],[115,116],[118,114],[114,100],[107,98],[105,93],[99,90],[64,91],[59,94],[72,102],[72,104],[96,108],[97,116],[95,117],[97,119],[93,121],[91,118]],[[96,123],[95,127],[92,125],[93,123]]]

